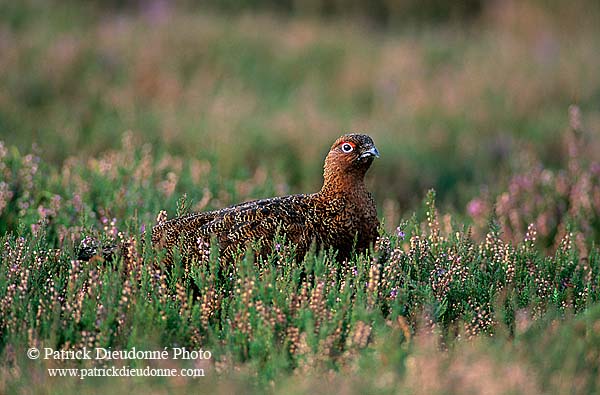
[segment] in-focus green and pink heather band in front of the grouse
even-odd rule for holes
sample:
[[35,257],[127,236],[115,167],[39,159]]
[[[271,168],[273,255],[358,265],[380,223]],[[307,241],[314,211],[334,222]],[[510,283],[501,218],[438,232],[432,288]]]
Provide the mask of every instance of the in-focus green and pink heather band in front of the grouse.
[[[371,385],[377,393],[420,391],[419,380],[439,381],[439,391],[460,392],[486,380],[507,391],[529,393],[527,386],[540,393],[575,386],[581,393],[595,391],[597,365],[580,358],[596,358],[591,350],[600,339],[598,250],[583,261],[567,236],[547,256],[533,233],[518,245],[503,242],[494,222],[481,242],[462,225],[446,233],[433,193],[424,212],[424,218],[384,235],[372,257],[356,256],[346,265],[314,253],[295,262],[282,250],[266,261],[246,258],[224,273],[214,254],[204,265],[176,262],[164,268],[134,232],[137,248],[125,258],[73,260],[72,246],[53,248],[56,218],[35,232],[6,234],[0,272],[3,391],[53,392],[64,385],[74,392],[94,392],[98,385],[121,391],[119,385],[128,385],[106,378],[50,378],[48,368],[95,363],[27,361],[25,351],[34,346],[211,351],[209,363],[124,362],[141,368],[201,366],[209,376],[140,380],[152,388],[183,390],[206,380],[223,390],[241,380],[259,392],[275,383],[293,393],[296,380],[319,388],[322,375],[340,382],[351,375],[356,392]],[[128,225],[137,229],[139,221]],[[110,225],[101,233],[114,237]],[[192,288],[198,290],[196,300]],[[412,370],[420,370],[415,364],[435,366],[415,378]],[[499,382],[487,364],[511,377]],[[470,365],[483,370],[482,382],[447,377]],[[533,381],[521,377],[525,371]],[[566,378],[554,378],[559,371]]]

